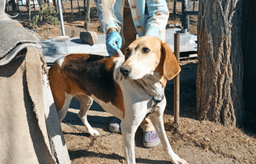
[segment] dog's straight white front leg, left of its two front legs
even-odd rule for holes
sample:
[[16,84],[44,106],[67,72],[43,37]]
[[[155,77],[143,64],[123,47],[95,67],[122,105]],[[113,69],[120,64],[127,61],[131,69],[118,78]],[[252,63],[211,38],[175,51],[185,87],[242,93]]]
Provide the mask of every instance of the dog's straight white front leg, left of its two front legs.
[[127,164],[135,164],[134,136],[143,118],[126,116],[121,122],[123,144],[125,146],[125,158]]

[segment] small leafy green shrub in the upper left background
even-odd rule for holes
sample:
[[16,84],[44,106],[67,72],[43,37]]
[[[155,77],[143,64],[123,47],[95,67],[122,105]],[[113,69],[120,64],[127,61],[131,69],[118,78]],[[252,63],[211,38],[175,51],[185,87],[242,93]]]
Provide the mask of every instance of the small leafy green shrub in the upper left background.
[[43,3],[42,5],[40,5],[40,7],[42,8],[41,11],[39,11],[39,14],[33,17],[32,20],[32,25],[37,25],[38,21],[43,21],[43,19],[46,20],[46,24],[47,24],[47,34],[49,36],[49,27],[48,27],[48,23],[52,22],[54,25],[59,24],[59,19],[57,19],[55,16],[57,14],[59,14],[59,10],[57,10],[55,7],[46,7],[45,3]]

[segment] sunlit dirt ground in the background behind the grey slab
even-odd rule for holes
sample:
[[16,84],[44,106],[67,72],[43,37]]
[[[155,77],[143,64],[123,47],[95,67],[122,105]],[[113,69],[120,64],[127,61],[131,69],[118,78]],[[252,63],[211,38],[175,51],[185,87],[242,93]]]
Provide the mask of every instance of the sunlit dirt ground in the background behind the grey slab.
[[[73,13],[71,14],[70,2],[63,2],[63,6],[64,6],[63,19],[64,19],[65,34],[69,37],[78,37],[81,31],[85,31],[84,29],[85,16],[82,15],[82,11],[84,10],[83,1],[79,1],[79,4],[80,4],[79,5],[80,14],[79,14],[79,6],[77,1],[73,2]],[[53,6],[52,3],[50,3],[50,6]],[[26,7],[20,6],[19,8],[20,8],[19,15],[13,19],[18,20],[19,23],[21,23],[24,27],[33,29],[36,33],[39,34],[42,40],[46,40],[48,37],[62,35],[60,24],[57,24],[57,25],[49,24],[49,31],[47,31],[47,24],[45,21],[39,21],[36,27],[30,26],[28,24],[29,20],[28,20],[28,12]],[[168,8],[172,13],[173,12],[172,2],[168,3]],[[191,7],[190,7],[190,10],[192,10]],[[198,10],[198,1],[196,1],[196,6],[195,6],[195,11],[197,10]],[[175,23],[181,24],[181,2],[177,2],[176,11],[177,11],[176,12],[177,15],[170,14],[168,24],[175,24]],[[35,10],[33,7],[31,8],[31,20],[35,15],[38,14],[38,12],[39,12],[39,7],[35,7]],[[7,14],[15,15],[14,12],[12,11],[8,12]],[[57,16],[57,18],[59,18],[59,16]],[[197,16],[190,16],[189,20],[190,20],[190,23],[189,23],[190,32],[197,33]],[[89,31],[97,32],[97,34],[103,34],[103,32],[100,29],[100,21],[98,20],[97,8],[94,4],[94,1],[91,1],[91,4],[90,4]]]

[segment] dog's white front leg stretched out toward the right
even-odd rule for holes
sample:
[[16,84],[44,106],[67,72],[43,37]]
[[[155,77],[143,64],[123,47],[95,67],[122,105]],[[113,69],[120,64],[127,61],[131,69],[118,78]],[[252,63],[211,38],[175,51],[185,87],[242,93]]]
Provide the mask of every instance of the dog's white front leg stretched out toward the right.
[[150,114],[150,120],[155,127],[156,132],[161,140],[164,150],[168,153],[168,157],[174,164],[188,164],[184,159],[181,159],[172,150],[171,145],[167,139],[166,131],[164,130],[163,112],[166,107],[166,98],[156,106],[154,113]]

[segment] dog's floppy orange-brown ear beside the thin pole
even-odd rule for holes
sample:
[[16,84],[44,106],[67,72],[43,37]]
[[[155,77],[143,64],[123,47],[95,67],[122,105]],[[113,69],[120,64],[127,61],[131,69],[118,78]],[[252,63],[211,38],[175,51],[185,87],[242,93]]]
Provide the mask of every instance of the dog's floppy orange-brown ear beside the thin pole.
[[163,62],[163,76],[167,80],[173,79],[180,72],[180,65],[177,63],[177,59],[172,53],[170,46],[167,43],[162,43],[162,56]]

